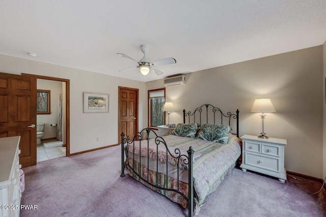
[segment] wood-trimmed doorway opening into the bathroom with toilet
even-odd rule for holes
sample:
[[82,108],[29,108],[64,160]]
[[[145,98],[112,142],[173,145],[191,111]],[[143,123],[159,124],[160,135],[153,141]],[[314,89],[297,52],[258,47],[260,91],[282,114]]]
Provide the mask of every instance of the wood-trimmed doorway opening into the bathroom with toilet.
[[37,78],[37,162],[70,155],[69,79]]

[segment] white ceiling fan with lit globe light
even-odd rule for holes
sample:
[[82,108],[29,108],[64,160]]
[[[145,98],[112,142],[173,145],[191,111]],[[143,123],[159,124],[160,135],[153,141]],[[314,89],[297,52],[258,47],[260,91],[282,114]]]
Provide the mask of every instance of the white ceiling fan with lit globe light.
[[135,59],[123,54],[123,53],[117,53],[117,55],[121,55],[124,58],[127,58],[129,60],[132,60],[132,61],[135,61],[135,62],[138,63],[138,66],[127,68],[127,69],[122,69],[122,70],[119,70],[119,71],[125,71],[125,70],[133,69],[133,68],[140,68],[140,71],[141,71],[141,73],[143,75],[147,75],[149,72],[155,72],[156,75],[160,75],[160,74],[163,74],[163,72],[156,69],[156,68],[154,68],[155,66],[175,64],[177,62],[172,57],[157,60],[157,61],[154,61],[154,62],[149,62],[149,60],[146,57],[146,54],[148,53],[148,50],[149,50],[148,45],[147,44],[142,44],[141,45],[141,50],[144,53],[144,57],[139,61],[137,61],[137,60],[135,60]]

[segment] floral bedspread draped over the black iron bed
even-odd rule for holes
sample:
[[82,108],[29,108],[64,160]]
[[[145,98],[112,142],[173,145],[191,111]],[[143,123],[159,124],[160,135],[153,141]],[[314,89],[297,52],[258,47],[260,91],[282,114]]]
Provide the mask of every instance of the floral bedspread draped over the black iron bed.
[[[228,144],[179,137],[177,135],[168,135],[164,137],[164,140],[172,155],[176,155],[174,152],[176,148],[180,150],[181,154],[186,156],[186,151],[189,149],[189,147],[192,146],[194,149],[193,178],[196,195],[195,200],[196,204],[199,206],[205,202],[205,198],[210,193],[216,191],[220,183],[223,181],[226,173],[230,171],[230,168],[232,169],[234,167],[235,161],[238,159],[241,153],[241,140],[232,134],[229,134]],[[149,146],[149,149],[147,146]],[[147,141],[142,141],[141,145],[139,145],[139,141],[135,142],[134,145],[129,144],[128,149],[129,154],[130,152],[132,153],[134,151],[135,154],[141,154],[143,157],[148,156],[149,158],[156,158],[157,156],[162,162],[166,162],[166,160],[168,160],[170,164],[177,165],[175,158],[170,154],[167,155],[165,145],[156,145],[154,139],[149,141],[149,145],[147,145]],[[137,159],[137,157],[135,158]],[[130,161],[130,159],[131,158],[129,158],[129,162],[132,161]],[[179,167],[181,169],[187,169],[187,165],[182,164],[182,160],[180,162],[181,164],[179,164]],[[169,196],[167,197],[170,198]],[[184,204],[181,205],[184,206]]]

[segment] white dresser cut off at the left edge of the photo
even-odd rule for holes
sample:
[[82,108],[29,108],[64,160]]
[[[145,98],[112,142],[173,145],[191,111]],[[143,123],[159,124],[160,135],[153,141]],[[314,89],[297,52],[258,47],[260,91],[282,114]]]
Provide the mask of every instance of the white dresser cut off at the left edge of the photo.
[[19,216],[19,141],[20,137],[0,138],[0,217]]

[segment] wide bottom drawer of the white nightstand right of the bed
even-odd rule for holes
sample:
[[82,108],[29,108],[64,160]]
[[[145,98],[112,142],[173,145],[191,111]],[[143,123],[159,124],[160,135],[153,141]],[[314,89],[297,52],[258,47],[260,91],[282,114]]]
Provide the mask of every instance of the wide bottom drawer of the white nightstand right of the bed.
[[270,170],[274,172],[279,172],[279,159],[270,158],[270,157],[264,157],[256,154],[251,154],[248,152],[245,152],[245,162],[244,164],[258,167],[264,170]]

